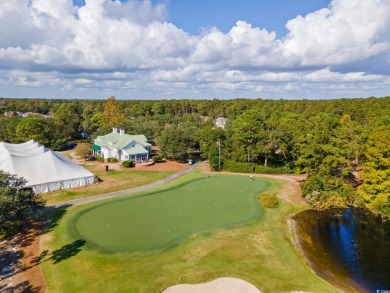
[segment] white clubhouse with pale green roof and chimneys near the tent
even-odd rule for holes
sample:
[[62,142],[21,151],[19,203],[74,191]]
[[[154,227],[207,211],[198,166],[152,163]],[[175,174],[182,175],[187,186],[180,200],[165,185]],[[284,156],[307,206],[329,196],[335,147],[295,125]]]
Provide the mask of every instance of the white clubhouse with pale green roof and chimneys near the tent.
[[92,146],[95,156],[104,159],[116,158],[119,161],[133,160],[136,163],[148,161],[152,145],[147,142],[145,135],[125,134],[124,129],[113,128],[112,132],[98,136]]

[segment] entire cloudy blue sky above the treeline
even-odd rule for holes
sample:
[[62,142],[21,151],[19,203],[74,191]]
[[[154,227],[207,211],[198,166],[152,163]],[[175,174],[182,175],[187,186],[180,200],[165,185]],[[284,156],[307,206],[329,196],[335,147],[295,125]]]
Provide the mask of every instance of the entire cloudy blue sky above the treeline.
[[387,96],[390,0],[2,0],[0,97]]

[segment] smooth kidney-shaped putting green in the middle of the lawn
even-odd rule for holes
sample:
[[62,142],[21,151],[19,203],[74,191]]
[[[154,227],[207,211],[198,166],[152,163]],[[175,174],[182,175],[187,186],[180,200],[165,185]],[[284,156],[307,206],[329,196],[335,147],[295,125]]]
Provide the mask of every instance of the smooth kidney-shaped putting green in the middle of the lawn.
[[192,234],[238,226],[261,216],[259,193],[274,181],[213,175],[169,189],[82,210],[74,229],[89,246],[112,252],[158,250]]

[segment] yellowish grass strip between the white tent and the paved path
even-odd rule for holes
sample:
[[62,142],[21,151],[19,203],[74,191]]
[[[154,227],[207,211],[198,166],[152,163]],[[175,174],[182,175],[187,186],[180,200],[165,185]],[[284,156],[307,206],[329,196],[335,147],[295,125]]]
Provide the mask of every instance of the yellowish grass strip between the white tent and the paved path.
[[97,165],[84,165],[84,167],[100,178],[101,181],[97,184],[85,187],[44,193],[42,194],[42,197],[46,200],[46,203],[64,202],[67,200],[133,188],[157,181],[175,173],[172,171],[156,172],[135,169],[111,170],[105,172],[101,166]]

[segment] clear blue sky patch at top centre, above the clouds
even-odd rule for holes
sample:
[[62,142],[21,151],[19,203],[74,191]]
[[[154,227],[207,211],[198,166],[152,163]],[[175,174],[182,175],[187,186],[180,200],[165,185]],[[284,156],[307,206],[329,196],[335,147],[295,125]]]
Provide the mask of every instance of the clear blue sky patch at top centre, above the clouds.
[[[83,6],[85,0],[73,0],[73,3]],[[170,0],[165,3],[167,20],[190,34],[200,34],[213,26],[228,32],[237,20],[245,20],[283,37],[288,20],[327,7],[330,0]]]

